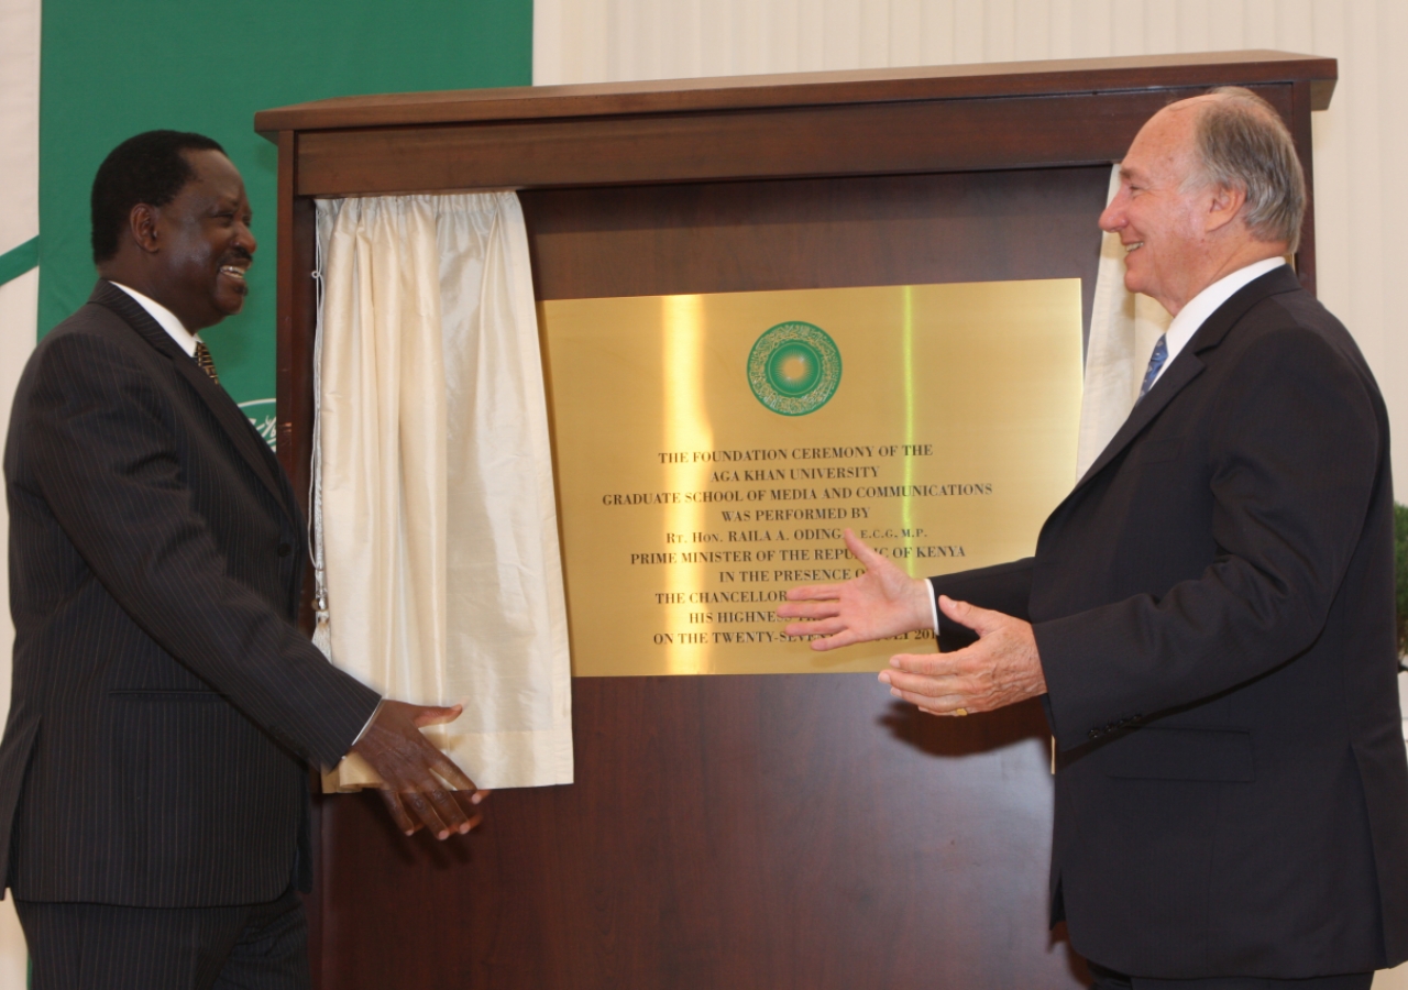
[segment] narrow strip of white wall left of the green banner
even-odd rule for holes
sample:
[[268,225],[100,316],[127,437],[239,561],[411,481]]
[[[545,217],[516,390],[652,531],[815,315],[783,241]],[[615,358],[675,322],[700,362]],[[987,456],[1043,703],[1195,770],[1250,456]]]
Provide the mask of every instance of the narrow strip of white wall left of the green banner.
[[[0,255],[39,232],[39,0],[0,0]],[[39,270],[0,284],[0,437],[34,349]],[[7,542],[0,499],[0,546]],[[0,566],[0,724],[10,710],[10,572]],[[0,990],[25,984],[27,953],[14,901],[0,904]]]

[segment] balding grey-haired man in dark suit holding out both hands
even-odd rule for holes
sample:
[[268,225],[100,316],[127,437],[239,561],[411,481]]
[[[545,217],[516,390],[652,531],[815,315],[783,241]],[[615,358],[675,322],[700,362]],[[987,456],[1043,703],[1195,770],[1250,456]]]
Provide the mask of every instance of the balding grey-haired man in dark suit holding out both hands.
[[1252,93],[1155,115],[1101,227],[1174,321],[1035,556],[921,582],[850,538],[863,577],[779,608],[822,649],[941,622],[952,652],[880,675],[925,711],[1043,698],[1052,921],[1097,987],[1366,989],[1408,958],[1388,420],[1281,261],[1302,211]]

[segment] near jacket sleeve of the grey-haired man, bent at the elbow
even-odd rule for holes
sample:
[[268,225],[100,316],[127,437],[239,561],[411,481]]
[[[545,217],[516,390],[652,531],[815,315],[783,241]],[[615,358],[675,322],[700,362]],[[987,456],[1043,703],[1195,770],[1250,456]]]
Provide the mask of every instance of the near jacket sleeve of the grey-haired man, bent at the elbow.
[[1373,397],[1318,334],[1250,345],[1208,442],[1214,562],[1140,594],[1033,627],[1059,745],[1093,725],[1194,704],[1294,660],[1319,637],[1378,473]]

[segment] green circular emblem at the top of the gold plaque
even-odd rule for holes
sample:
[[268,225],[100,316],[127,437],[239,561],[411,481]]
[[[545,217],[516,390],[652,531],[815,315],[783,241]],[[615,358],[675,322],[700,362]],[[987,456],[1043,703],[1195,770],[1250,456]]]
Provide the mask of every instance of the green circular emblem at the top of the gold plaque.
[[815,413],[839,384],[841,351],[810,322],[780,322],[763,331],[748,353],[748,386],[773,413]]

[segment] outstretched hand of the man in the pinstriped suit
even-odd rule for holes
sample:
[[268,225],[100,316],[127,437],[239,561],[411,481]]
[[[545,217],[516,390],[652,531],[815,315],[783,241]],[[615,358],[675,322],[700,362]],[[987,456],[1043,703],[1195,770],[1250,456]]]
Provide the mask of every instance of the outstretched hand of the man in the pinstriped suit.
[[352,744],[352,752],[382,777],[382,800],[396,827],[407,835],[421,825],[438,839],[449,838],[452,831],[463,835],[484,817],[474,806],[489,791],[479,790],[452,759],[421,735],[425,725],[452,722],[460,711],[463,706],[459,704],[442,708],[386,698],[366,732]]

